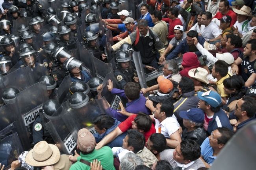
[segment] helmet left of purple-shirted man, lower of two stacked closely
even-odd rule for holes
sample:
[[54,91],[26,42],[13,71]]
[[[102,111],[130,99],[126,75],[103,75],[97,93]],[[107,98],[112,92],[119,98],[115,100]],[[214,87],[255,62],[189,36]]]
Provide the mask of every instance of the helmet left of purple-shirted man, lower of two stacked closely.
[[81,108],[89,101],[89,97],[82,92],[76,92],[69,98],[69,104],[72,108]]

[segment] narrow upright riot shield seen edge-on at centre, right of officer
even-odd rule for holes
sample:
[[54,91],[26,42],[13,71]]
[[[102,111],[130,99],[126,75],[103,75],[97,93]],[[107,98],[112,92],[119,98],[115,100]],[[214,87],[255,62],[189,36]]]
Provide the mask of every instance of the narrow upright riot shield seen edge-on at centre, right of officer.
[[141,85],[141,88],[147,88],[147,82],[146,82],[146,77],[144,73],[140,52],[134,51],[132,53],[132,58],[134,60],[135,69],[139,77],[139,84]]

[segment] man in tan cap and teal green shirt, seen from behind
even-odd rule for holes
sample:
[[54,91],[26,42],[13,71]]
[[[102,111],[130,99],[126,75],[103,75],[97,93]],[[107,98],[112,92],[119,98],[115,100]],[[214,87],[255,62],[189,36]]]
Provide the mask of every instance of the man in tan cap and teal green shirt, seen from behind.
[[104,170],[115,170],[113,165],[113,152],[111,148],[104,146],[99,150],[96,150],[95,146],[96,142],[93,134],[85,128],[79,130],[77,137],[77,149],[80,150],[80,155],[75,152],[76,155],[69,156],[70,161],[76,162],[69,168],[69,170],[90,170],[90,166],[82,163],[81,161],[85,160],[91,163],[94,159],[98,159],[98,161],[100,161]]

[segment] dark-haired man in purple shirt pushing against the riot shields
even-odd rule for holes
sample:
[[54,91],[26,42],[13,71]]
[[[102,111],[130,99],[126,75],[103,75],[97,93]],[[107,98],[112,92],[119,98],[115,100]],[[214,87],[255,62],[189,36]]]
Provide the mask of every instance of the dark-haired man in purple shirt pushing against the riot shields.
[[[100,85],[101,86],[101,85]],[[98,87],[98,93],[100,92],[100,86]],[[117,88],[113,88],[113,82],[108,80],[108,91],[110,91],[114,95],[118,95],[121,98],[127,99],[128,103],[126,103],[125,110],[129,113],[139,113],[143,112],[147,115],[150,114],[150,110],[145,106],[146,98],[140,93],[140,86],[138,83],[135,82],[128,82],[124,86],[124,90],[120,90]],[[118,112],[119,110],[114,110],[109,108],[107,113],[116,118],[118,121],[124,121],[127,116],[122,115]]]

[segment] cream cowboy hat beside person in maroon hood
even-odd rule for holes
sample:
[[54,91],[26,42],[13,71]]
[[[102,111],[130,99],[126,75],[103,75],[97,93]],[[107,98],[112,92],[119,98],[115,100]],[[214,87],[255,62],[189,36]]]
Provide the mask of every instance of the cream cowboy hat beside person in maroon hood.
[[209,81],[207,79],[208,71],[204,68],[201,68],[201,67],[193,68],[189,70],[188,75],[194,79],[199,80],[200,82],[209,84]]

